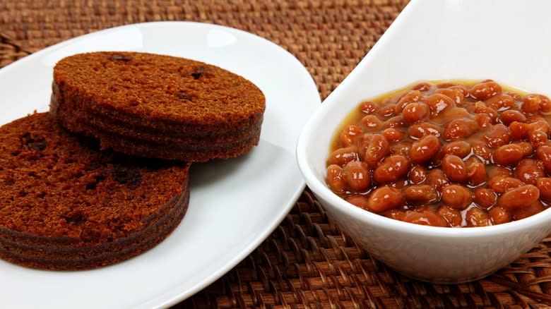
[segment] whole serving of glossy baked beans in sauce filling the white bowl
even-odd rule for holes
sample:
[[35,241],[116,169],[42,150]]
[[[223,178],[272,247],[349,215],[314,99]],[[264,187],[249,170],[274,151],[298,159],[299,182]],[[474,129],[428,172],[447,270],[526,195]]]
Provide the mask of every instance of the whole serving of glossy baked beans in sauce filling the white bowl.
[[432,226],[487,226],[551,203],[551,102],[475,85],[422,82],[359,104],[326,162],[352,205]]

